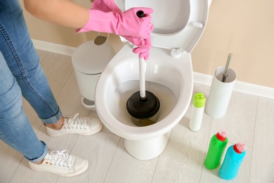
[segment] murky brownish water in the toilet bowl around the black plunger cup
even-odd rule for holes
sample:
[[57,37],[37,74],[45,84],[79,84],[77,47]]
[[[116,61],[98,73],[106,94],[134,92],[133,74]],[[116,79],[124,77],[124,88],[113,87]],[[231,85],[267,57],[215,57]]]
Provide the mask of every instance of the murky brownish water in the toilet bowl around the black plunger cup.
[[174,106],[176,106],[176,97],[174,92],[171,91],[168,87],[165,87],[162,84],[158,84],[155,82],[147,81],[145,83],[145,88],[147,91],[152,92],[153,94],[157,95],[161,106],[158,112],[158,115],[155,119],[149,120],[141,120],[138,121],[129,115],[126,111],[126,101],[129,99],[133,92],[139,90],[139,81],[138,80],[131,80],[124,82],[123,84],[119,84],[119,86],[115,89],[112,93],[113,96],[108,97],[108,108],[110,113],[119,121],[122,122],[124,125],[129,126],[146,126],[146,125],[153,125],[155,122],[158,122],[173,110]]

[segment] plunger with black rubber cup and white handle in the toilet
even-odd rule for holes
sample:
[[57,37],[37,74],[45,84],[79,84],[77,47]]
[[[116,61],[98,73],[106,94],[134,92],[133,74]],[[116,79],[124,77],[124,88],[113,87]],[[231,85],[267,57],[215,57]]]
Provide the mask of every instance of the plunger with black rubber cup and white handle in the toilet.
[[[137,12],[143,17],[143,11]],[[159,111],[160,103],[157,96],[145,91],[145,60],[139,58],[140,91],[132,94],[126,102],[126,110],[133,118],[146,120],[152,118]]]

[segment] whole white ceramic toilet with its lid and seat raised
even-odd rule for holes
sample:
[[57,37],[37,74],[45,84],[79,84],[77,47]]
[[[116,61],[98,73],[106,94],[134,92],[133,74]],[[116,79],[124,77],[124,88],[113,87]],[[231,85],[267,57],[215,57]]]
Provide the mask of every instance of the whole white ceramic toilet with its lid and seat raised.
[[171,130],[188,109],[193,94],[191,51],[207,23],[211,1],[206,0],[117,0],[122,11],[150,7],[154,30],[152,49],[145,62],[145,88],[160,101],[159,118],[153,125],[137,127],[126,111],[126,101],[139,90],[138,55],[125,44],[100,75],[95,103],[107,129],[124,139],[134,158],[149,160],[167,146]]

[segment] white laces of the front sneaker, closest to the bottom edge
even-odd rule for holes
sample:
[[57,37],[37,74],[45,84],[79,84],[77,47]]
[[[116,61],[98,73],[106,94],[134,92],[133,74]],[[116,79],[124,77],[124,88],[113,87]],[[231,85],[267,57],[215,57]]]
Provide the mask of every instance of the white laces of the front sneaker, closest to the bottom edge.
[[67,150],[51,151],[49,155],[51,157],[49,162],[50,165],[58,165],[67,168],[70,168],[70,166],[72,165],[72,156],[70,156]]

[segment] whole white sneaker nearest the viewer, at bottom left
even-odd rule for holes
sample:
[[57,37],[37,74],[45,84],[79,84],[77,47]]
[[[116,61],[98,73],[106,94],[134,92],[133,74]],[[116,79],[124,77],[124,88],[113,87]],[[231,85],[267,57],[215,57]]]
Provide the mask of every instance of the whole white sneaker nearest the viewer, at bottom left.
[[41,164],[30,161],[29,164],[32,170],[65,177],[79,175],[89,167],[88,160],[69,154],[67,150],[49,151]]

